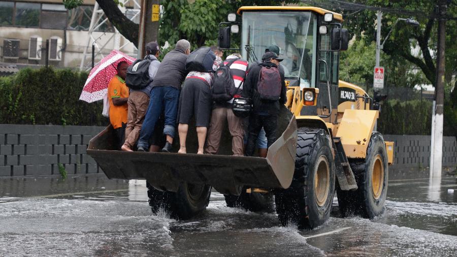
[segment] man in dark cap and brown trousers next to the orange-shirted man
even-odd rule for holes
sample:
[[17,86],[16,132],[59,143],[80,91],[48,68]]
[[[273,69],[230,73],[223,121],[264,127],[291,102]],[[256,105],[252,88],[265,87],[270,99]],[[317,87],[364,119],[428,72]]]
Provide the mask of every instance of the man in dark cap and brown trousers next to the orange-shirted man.
[[127,127],[125,128],[125,142],[121,147],[123,151],[132,151],[132,148],[140,137],[141,126],[143,125],[144,117],[149,105],[152,80],[160,65],[160,61],[157,60],[157,57],[160,54],[160,48],[157,42],[149,42],[146,45],[146,54],[145,58],[148,58],[151,61],[148,70],[151,83],[143,89],[130,90],[127,101],[128,113]]

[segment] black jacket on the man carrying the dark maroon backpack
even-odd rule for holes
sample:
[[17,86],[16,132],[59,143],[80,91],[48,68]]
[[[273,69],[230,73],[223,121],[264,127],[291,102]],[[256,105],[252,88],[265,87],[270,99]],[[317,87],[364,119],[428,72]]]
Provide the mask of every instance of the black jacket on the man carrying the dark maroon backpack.
[[254,113],[268,113],[270,115],[277,115],[279,113],[280,104],[283,105],[287,101],[287,89],[284,82],[284,70],[278,69],[279,75],[281,76],[281,95],[279,97],[279,101],[263,101],[260,99],[257,93],[258,74],[263,66],[277,67],[274,63],[270,61],[262,62],[259,63],[259,65],[252,67],[246,76],[246,80],[243,85],[242,96],[244,98],[252,99]]

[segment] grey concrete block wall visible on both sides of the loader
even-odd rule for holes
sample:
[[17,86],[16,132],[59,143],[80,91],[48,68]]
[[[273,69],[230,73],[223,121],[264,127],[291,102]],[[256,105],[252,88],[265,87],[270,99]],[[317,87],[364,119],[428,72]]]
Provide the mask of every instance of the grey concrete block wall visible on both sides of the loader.
[[[86,154],[89,140],[101,126],[0,124],[0,176],[60,175],[58,164],[68,174],[101,173]],[[384,135],[395,142],[393,169],[427,167],[430,136]],[[444,137],[443,166],[457,166],[457,142]]]

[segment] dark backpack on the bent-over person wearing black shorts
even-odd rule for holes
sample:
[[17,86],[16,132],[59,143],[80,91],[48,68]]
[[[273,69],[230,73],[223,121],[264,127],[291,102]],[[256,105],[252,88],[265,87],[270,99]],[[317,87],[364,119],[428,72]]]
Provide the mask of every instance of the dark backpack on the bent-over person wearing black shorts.
[[213,63],[216,54],[211,51],[211,47],[200,47],[187,56],[186,70],[188,72],[214,72]]

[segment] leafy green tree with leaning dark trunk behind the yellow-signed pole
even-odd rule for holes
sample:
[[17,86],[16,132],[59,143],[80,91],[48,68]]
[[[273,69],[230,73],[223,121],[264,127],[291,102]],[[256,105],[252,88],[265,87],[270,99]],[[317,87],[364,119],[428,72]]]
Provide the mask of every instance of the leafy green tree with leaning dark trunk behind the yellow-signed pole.
[[[138,24],[130,21],[117,7],[118,0],[96,0],[109,21],[127,40],[138,46]],[[236,12],[241,6],[281,5],[298,3],[299,0],[161,0],[163,8],[160,17],[159,43],[174,44],[179,39],[187,39],[194,47],[215,44],[219,22],[225,21],[227,13]],[[67,9],[82,5],[82,0],[63,0]]]

